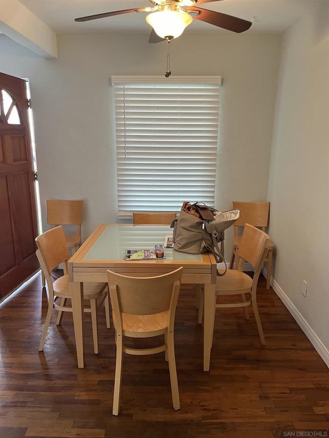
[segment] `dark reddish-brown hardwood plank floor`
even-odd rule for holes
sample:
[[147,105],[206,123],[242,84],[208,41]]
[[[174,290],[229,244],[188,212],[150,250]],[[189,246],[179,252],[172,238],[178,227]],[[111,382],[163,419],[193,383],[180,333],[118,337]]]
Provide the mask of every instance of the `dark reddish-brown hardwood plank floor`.
[[[116,417],[113,329],[106,329],[101,311],[94,355],[85,315],[85,368],[78,369],[71,315],[61,327],[53,315],[39,353],[46,295],[38,274],[0,304],[0,437],[329,436],[329,370],[263,277],[258,296],[266,347],[252,311],[246,321],[242,309],[217,309],[210,372],[204,372],[203,329],[193,291],[183,285],[175,325],[181,409],[172,407],[163,353],[125,355]],[[321,434],[301,434],[314,430]]]

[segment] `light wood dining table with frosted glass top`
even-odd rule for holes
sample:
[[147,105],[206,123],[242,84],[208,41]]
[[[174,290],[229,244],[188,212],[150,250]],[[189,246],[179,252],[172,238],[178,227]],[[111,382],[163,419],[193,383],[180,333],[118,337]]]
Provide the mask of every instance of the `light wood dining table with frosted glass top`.
[[211,253],[186,254],[165,247],[165,257],[150,260],[125,260],[127,250],[154,249],[172,235],[163,225],[106,224],[84,241],[68,261],[72,313],[78,367],[84,367],[83,282],[106,282],[106,270],[130,276],[154,276],[183,266],[182,283],[204,286],[204,371],[210,368],[214,324],[216,260]]

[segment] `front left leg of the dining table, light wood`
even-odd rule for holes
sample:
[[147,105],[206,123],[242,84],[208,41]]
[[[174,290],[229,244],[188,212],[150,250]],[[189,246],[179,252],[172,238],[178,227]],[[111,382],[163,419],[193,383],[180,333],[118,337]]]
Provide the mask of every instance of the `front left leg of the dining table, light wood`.
[[70,282],[70,291],[78,368],[83,368],[83,283]]

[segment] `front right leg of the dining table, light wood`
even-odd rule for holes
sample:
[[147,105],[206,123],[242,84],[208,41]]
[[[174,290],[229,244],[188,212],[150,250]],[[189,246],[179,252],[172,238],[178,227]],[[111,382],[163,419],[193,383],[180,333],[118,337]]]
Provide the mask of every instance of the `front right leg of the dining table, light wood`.
[[214,330],[215,284],[205,284],[204,289],[204,371],[210,369],[210,352]]

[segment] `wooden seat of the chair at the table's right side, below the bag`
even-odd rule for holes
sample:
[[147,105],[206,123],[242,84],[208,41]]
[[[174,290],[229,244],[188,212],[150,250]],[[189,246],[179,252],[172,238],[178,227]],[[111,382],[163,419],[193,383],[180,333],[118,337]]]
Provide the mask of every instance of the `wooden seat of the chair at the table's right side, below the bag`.
[[249,292],[252,288],[252,278],[241,271],[228,269],[223,277],[217,277],[217,295],[237,295]]

